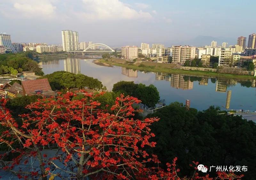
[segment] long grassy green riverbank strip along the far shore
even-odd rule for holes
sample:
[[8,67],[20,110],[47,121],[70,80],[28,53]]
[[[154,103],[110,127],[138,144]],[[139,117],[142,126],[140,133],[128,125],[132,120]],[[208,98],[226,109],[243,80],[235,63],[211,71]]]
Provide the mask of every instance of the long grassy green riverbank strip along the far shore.
[[[163,73],[181,73],[181,74],[187,74],[187,75],[194,75],[194,76],[208,76],[208,77],[223,77],[228,79],[256,79],[254,76],[250,75],[233,75],[233,74],[223,74],[223,73],[216,73],[216,72],[209,72],[209,71],[197,71],[197,70],[181,70],[181,69],[172,69],[172,68],[164,68],[164,67],[157,67],[157,66],[138,66],[136,64],[132,63],[124,63],[120,61],[119,59],[116,59],[118,62],[115,61],[115,59],[100,59],[98,60],[101,63],[107,63],[113,66],[120,66],[124,68],[131,68],[131,69],[137,69],[137,70],[143,70],[143,71],[151,71],[151,72],[163,72]],[[125,60],[124,60],[125,61]]]

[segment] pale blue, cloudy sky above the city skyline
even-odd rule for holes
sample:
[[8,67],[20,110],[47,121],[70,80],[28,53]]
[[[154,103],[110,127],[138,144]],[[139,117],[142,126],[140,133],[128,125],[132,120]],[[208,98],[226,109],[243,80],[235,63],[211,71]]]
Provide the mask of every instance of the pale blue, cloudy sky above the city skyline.
[[61,44],[69,29],[79,42],[111,47],[233,45],[256,33],[254,0],[0,0],[0,10],[0,32],[12,42]]

